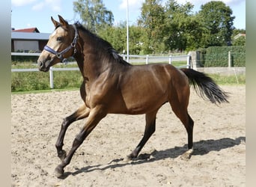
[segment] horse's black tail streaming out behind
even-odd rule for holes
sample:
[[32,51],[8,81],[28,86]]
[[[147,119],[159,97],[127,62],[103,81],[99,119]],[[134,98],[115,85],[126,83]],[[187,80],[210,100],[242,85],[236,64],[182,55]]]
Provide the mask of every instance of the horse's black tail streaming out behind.
[[195,91],[203,99],[210,99],[210,102],[228,102],[228,93],[222,91],[209,76],[192,69],[180,69],[189,78],[189,83],[194,86]]

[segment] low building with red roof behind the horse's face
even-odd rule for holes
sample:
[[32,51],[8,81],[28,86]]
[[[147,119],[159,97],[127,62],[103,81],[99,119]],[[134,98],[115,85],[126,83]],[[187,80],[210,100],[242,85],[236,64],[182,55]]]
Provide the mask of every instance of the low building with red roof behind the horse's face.
[[37,28],[11,31],[11,52],[41,52],[49,40],[48,33],[40,33]]

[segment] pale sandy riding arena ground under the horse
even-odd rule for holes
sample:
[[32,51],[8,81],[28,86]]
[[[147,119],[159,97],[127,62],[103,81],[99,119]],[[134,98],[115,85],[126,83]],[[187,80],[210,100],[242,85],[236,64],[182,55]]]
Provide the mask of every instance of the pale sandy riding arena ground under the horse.
[[[183,160],[187,135],[168,104],[157,114],[156,132],[130,162],[124,158],[144,132],[144,115],[109,114],[76,151],[64,177],[55,141],[64,117],[82,104],[79,91],[11,96],[12,186],[246,186],[246,87],[222,86],[230,103],[204,101],[192,90],[194,153]],[[64,140],[70,150],[85,120]],[[147,157],[144,158],[144,157]],[[149,158],[148,158],[149,157]]]

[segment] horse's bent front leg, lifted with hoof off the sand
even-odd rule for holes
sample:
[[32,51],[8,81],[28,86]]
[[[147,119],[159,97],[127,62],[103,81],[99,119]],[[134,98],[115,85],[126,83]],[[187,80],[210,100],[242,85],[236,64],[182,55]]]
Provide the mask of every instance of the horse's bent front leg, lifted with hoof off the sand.
[[62,147],[64,145],[64,143],[63,143],[64,136],[65,136],[68,126],[70,126],[70,124],[76,120],[82,120],[85,117],[88,117],[89,113],[90,113],[90,108],[87,108],[84,104],[80,108],[78,108],[73,114],[64,118],[63,123],[61,124],[61,131],[58,134],[58,139],[55,144],[55,147],[56,147],[57,153],[58,153],[58,157],[61,160],[63,160],[66,157],[66,151],[63,150]]

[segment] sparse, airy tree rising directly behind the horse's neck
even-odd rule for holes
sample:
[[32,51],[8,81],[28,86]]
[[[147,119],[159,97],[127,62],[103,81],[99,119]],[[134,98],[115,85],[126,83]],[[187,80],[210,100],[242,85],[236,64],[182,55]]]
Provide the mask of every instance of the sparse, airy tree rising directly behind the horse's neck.
[[112,11],[107,10],[102,0],[78,0],[73,2],[73,10],[79,13],[82,24],[90,31],[97,33],[113,25]]

